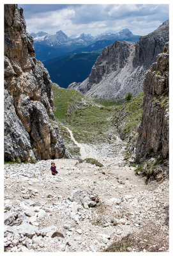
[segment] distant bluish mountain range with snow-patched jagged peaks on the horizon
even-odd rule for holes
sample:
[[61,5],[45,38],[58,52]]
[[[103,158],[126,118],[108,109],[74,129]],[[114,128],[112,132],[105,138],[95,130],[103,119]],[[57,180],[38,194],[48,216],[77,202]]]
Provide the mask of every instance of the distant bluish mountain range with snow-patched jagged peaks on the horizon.
[[116,40],[137,42],[140,37],[133,35],[129,29],[98,36],[82,33],[80,36],[71,37],[63,31],[57,31],[56,35],[49,35],[43,31],[31,33],[31,35],[34,37],[36,58],[40,61],[50,60],[66,54],[102,50]]

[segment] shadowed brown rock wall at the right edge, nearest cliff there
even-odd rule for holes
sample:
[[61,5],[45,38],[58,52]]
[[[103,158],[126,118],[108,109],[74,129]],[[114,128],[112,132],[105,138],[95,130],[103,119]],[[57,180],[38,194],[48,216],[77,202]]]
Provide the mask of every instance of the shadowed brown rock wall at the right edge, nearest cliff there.
[[169,156],[169,43],[158,54],[144,81],[143,115],[136,145],[136,161]]

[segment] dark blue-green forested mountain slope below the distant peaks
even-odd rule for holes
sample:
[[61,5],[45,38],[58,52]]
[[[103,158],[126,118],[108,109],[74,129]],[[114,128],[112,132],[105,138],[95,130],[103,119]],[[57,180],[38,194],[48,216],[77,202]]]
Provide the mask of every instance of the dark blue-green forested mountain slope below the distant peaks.
[[67,88],[72,82],[82,82],[89,76],[96,58],[96,53],[71,54],[53,60],[44,62],[45,67],[49,70],[50,77],[54,83],[63,88]]

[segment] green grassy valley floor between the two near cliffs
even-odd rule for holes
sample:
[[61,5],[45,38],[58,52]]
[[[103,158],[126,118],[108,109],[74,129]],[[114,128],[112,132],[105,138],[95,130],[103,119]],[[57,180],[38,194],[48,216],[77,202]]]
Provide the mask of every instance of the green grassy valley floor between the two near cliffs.
[[93,143],[103,141],[110,127],[115,109],[119,108],[116,101],[101,102],[84,96],[77,90],[68,90],[53,86],[54,115],[57,121],[66,124],[73,131],[77,141]]

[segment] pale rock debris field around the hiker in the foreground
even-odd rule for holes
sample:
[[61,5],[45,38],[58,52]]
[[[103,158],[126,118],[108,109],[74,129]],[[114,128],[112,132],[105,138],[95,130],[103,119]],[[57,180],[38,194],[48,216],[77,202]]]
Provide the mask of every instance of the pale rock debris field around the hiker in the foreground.
[[146,185],[114,143],[85,148],[102,168],[56,159],[52,176],[51,160],[6,164],[4,251],[103,252],[131,237],[122,251],[167,252],[169,181]]

